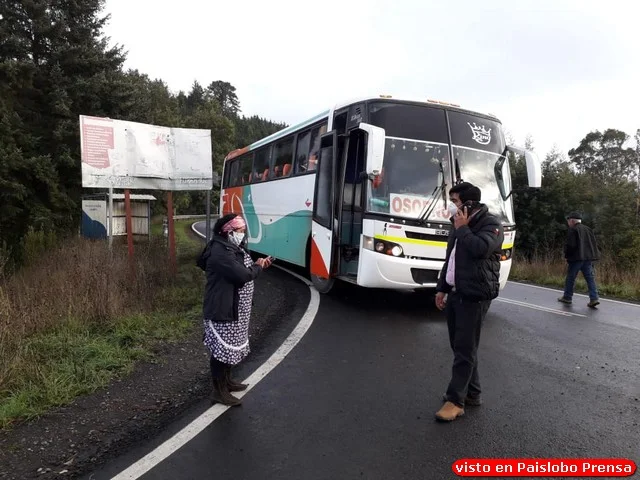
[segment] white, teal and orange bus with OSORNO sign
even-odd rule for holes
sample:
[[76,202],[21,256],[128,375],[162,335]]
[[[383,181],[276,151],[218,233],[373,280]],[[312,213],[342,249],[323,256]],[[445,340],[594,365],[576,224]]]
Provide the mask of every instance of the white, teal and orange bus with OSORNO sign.
[[225,158],[220,214],[242,214],[249,249],[306,267],[321,293],[336,279],[363,287],[435,288],[447,236],[448,191],[477,185],[504,225],[501,288],[515,221],[500,121],[438,101],[370,97],[337,104]]

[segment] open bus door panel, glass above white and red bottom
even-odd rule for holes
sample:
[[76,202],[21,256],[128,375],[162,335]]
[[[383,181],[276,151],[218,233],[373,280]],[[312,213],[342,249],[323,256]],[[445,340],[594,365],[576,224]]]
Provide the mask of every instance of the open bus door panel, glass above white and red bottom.
[[320,138],[320,158],[316,169],[315,195],[311,223],[311,280],[318,291],[328,292],[333,286],[337,133]]

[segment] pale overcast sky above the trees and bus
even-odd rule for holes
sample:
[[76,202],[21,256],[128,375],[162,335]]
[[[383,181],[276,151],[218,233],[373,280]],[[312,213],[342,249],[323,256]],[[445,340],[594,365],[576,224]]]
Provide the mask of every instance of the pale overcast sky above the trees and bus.
[[125,68],[174,92],[230,82],[242,114],[290,125],[384,94],[492,113],[542,157],[640,129],[634,0],[106,0],[103,13]]

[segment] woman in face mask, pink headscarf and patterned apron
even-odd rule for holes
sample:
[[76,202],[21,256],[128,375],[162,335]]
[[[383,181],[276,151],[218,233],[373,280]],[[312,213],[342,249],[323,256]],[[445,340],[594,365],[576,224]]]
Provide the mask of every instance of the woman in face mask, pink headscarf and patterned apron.
[[254,263],[244,249],[246,223],[236,214],[220,218],[206,258],[203,317],[204,345],[211,352],[212,403],[239,405],[230,392],[247,385],[235,382],[231,366],[249,354],[249,320],[253,301],[253,280],[271,265],[271,258]]

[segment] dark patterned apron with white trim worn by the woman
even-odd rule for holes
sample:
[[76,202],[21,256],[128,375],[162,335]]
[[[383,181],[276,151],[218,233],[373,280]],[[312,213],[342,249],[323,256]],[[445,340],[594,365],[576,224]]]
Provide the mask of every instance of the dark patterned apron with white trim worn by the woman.
[[[250,267],[253,260],[245,253],[244,264]],[[203,343],[213,357],[229,365],[237,365],[249,354],[249,320],[253,301],[253,281],[247,282],[238,291],[238,321],[217,323],[214,319],[205,318]]]

